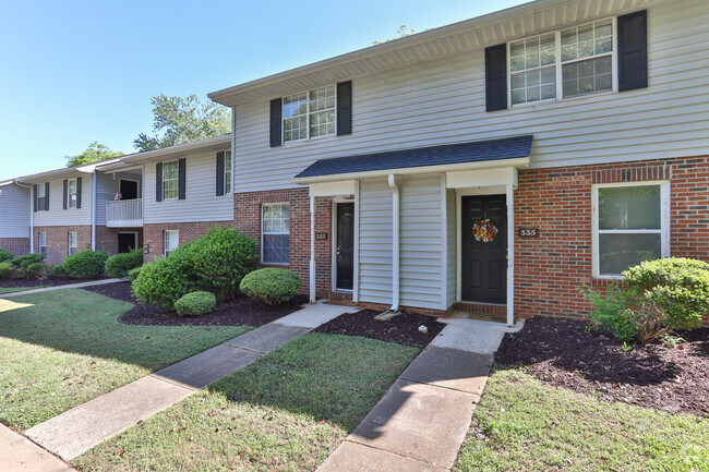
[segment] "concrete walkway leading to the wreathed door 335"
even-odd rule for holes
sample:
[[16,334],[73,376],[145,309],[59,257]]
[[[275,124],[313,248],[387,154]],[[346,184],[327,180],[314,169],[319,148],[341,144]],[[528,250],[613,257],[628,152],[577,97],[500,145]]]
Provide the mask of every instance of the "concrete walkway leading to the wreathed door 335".
[[417,356],[319,472],[443,472],[455,463],[505,332],[501,323],[443,319]]

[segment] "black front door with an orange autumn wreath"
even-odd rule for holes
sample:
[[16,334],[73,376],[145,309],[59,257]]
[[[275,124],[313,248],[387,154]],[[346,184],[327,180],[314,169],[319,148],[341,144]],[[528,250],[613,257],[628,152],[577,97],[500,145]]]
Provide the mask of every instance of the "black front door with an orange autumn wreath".
[[[461,298],[464,301],[507,301],[507,202],[505,195],[461,197]],[[490,221],[497,234],[490,242],[477,241],[476,221]]]

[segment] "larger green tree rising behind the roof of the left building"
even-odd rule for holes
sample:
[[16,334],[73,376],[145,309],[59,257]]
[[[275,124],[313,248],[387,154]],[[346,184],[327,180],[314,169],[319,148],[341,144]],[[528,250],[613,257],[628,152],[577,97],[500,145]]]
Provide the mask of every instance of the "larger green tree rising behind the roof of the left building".
[[141,133],[133,141],[143,153],[177,144],[219,136],[231,131],[231,111],[214,102],[202,104],[196,95],[151,98],[153,104],[152,136]]

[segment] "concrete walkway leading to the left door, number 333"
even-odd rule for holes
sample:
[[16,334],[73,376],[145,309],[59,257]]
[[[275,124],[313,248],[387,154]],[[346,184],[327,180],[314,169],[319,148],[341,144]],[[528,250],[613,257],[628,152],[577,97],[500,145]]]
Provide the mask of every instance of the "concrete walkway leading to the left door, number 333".
[[71,460],[267,352],[356,307],[317,303],[140,378],[25,432]]

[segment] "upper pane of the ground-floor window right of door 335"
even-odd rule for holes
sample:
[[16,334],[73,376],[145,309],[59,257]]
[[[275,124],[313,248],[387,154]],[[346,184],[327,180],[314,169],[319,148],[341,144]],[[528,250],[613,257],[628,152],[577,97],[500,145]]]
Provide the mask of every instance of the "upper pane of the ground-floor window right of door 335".
[[599,229],[660,229],[660,185],[598,190]]

